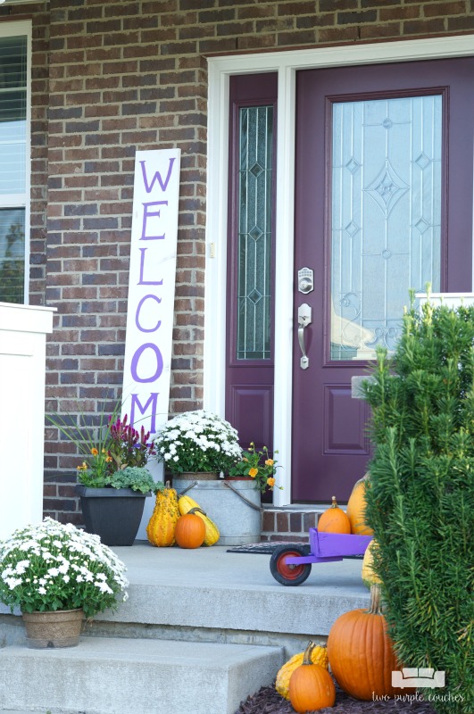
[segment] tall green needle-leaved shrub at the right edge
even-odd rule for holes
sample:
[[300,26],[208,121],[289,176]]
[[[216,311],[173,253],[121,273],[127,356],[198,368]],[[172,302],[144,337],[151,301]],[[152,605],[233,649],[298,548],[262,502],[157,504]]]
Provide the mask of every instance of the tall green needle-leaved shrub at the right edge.
[[472,714],[474,307],[412,307],[372,374],[367,518],[390,632],[404,667],[445,671],[422,690],[433,708]]

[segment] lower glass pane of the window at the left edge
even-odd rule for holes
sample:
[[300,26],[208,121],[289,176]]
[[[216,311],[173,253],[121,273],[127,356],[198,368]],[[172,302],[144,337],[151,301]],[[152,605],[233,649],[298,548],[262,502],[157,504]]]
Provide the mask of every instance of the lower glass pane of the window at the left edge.
[[25,211],[0,209],[0,302],[23,303]]

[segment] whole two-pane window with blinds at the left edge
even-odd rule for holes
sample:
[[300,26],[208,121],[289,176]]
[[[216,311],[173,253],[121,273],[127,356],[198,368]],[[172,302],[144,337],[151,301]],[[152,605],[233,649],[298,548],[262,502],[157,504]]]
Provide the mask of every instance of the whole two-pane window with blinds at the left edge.
[[27,302],[29,230],[29,33],[0,30],[0,301]]

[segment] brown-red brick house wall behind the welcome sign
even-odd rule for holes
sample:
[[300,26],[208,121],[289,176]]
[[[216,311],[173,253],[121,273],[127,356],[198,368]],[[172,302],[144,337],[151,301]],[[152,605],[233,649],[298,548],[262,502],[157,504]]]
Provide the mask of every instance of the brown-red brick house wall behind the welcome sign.
[[[203,398],[206,55],[474,31],[474,0],[50,0],[31,18],[31,303],[58,312],[47,411],[120,395],[134,155],[182,151],[170,411]],[[45,509],[80,522],[73,444],[46,429]]]

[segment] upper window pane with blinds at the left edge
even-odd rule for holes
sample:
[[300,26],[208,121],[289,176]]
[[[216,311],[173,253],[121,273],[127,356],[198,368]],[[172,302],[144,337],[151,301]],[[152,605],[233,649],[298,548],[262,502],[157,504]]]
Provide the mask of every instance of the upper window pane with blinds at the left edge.
[[25,191],[27,38],[0,40],[0,195]]

